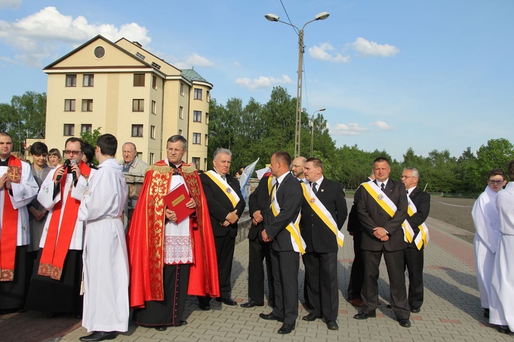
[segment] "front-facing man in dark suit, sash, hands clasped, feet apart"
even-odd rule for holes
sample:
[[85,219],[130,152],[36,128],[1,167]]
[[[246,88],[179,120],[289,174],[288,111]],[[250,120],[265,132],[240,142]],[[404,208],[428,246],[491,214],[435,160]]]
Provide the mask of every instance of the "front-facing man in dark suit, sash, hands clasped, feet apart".
[[361,292],[363,308],[355,319],[376,317],[378,275],[382,254],[389,274],[391,307],[400,326],[408,328],[408,310],[404,275],[404,241],[402,223],[407,217],[407,195],[402,182],[389,179],[389,160],[376,158],[373,164],[376,180],[364,183],[357,199],[357,212],[362,233],[364,283]]

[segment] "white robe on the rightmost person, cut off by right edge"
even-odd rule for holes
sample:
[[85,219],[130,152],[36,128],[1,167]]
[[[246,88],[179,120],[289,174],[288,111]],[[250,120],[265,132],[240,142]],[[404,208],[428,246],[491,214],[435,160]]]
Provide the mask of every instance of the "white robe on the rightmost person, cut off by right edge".
[[502,235],[494,259],[489,323],[514,331],[514,182],[498,192],[496,208]]

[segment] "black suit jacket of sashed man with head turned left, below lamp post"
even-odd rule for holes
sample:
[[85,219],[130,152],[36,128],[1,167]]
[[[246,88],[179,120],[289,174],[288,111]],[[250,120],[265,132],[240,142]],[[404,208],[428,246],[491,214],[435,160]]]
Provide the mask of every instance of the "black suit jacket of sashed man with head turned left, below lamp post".
[[[306,186],[309,185],[306,184]],[[341,230],[348,213],[343,186],[323,178],[323,182],[319,184],[317,197],[328,212],[330,212],[334,221],[336,221],[337,229]],[[300,228],[306,244],[305,251],[318,253],[337,252],[338,245],[334,232],[315,214],[305,197],[302,198]]]

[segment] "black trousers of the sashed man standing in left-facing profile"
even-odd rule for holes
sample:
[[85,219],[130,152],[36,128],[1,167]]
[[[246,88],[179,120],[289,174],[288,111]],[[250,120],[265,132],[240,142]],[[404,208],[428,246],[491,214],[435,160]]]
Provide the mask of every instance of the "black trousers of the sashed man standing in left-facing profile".
[[284,323],[295,324],[298,317],[298,269],[299,255],[295,251],[270,251],[275,307],[273,315],[283,318]]

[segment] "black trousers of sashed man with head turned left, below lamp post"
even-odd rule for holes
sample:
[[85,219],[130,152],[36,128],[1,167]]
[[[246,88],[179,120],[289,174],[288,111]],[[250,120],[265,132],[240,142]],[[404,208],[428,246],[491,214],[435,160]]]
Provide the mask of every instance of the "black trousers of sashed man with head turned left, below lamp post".
[[313,314],[326,321],[335,321],[339,308],[337,252],[309,252],[302,257],[308,275],[308,297]]

